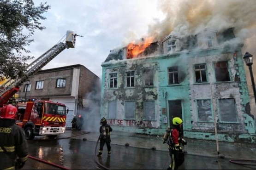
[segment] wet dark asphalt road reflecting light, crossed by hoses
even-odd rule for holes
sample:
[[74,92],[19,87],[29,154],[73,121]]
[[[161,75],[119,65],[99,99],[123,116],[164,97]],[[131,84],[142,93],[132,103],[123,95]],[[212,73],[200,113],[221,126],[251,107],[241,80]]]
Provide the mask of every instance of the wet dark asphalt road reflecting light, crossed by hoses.
[[[99,144],[81,139],[33,140],[28,141],[28,144],[30,158],[23,169],[29,170],[165,170],[170,163],[167,151],[114,144],[111,145],[110,157],[107,157],[107,147],[104,146],[103,156],[98,158],[95,157],[95,151],[98,152]],[[185,162],[179,169],[246,170],[256,169],[256,166],[232,164],[229,159],[186,154]]]

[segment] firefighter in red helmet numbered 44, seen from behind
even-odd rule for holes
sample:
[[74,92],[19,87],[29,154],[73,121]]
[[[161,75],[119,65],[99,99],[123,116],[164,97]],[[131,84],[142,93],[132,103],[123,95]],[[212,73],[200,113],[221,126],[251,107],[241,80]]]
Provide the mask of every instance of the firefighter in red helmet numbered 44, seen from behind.
[[15,124],[17,108],[11,104],[0,110],[0,170],[20,169],[28,159],[24,130]]

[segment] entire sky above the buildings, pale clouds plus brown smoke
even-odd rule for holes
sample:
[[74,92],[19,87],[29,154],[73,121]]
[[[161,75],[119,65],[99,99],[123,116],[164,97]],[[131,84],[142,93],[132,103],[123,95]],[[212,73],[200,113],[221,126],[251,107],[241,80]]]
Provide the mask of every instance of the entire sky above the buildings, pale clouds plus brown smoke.
[[204,28],[234,27],[237,38],[230,43],[244,43],[243,54],[248,51],[256,57],[256,0],[48,0],[47,4],[51,9],[42,21],[46,29],[34,34],[35,41],[28,47],[31,55],[41,56],[67,30],[83,37],[43,69],[82,64],[101,78],[101,63],[110,50],[145,36],[163,40],[169,34],[182,37]]

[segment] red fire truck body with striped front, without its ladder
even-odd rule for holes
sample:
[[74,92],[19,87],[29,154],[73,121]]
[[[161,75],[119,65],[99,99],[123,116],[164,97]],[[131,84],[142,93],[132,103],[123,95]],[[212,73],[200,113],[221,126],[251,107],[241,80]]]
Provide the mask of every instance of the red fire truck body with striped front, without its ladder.
[[26,139],[35,136],[55,138],[65,133],[67,107],[62,103],[41,100],[18,102],[16,124],[25,130]]

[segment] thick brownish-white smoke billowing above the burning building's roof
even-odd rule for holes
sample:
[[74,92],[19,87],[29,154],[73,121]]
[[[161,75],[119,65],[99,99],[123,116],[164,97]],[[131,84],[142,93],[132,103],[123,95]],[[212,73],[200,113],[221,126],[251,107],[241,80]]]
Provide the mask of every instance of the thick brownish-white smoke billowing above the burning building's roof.
[[[256,57],[256,0],[160,0],[158,2],[158,7],[165,18],[161,21],[155,19],[155,23],[149,25],[148,34],[143,37],[154,36],[155,41],[161,41],[168,35],[180,38],[195,35],[205,28],[217,32],[234,28],[236,38],[226,43],[233,45],[242,43],[243,56],[248,51]],[[135,34],[127,34],[124,42],[134,37]],[[247,82],[251,93],[249,69],[245,64],[244,66],[248,72]],[[256,63],[252,68],[256,73]]]

